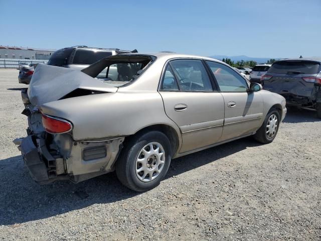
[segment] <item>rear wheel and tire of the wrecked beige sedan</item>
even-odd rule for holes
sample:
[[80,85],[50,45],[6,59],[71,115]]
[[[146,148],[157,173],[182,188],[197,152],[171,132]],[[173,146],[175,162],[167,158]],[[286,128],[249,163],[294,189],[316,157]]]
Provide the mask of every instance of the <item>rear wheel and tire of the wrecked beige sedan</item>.
[[133,191],[150,190],[166,176],[171,156],[171,143],[164,133],[150,131],[134,136],[124,144],[124,149],[117,160],[117,178]]

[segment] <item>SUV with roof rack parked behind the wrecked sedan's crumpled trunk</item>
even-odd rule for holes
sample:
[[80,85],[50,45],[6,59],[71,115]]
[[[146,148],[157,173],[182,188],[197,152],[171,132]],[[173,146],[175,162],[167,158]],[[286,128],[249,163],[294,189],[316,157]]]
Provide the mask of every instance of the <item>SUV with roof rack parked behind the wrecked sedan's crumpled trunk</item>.
[[[74,46],[59,49],[54,52],[49,61],[48,65],[60,66],[65,68],[72,68],[82,70],[88,67],[90,64],[103,59],[108,56],[123,54],[123,53],[136,53],[137,50],[127,51],[120,49],[103,49],[103,48],[92,48],[87,46]],[[29,66],[28,66],[29,67]],[[106,72],[106,70],[105,70]],[[32,75],[30,76],[31,79]],[[29,80],[30,82],[30,80]],[[26,84],[29,84],[26,83]]]

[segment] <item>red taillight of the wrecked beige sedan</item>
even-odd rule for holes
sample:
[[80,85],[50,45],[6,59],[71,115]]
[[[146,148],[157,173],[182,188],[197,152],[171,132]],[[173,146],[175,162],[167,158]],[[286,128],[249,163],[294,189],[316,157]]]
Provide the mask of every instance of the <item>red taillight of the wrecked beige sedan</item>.
[[46,132],[52,134],[65,133],[72,129],[70,122],[47,114],[42,114],[42,125]]

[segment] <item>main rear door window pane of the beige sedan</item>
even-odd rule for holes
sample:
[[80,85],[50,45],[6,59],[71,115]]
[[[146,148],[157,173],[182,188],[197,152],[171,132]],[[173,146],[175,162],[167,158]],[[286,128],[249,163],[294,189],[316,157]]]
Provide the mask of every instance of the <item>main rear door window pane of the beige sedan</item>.
[[213,91],[210,78],[201,60],[173,60],[173,75],[182,91]]

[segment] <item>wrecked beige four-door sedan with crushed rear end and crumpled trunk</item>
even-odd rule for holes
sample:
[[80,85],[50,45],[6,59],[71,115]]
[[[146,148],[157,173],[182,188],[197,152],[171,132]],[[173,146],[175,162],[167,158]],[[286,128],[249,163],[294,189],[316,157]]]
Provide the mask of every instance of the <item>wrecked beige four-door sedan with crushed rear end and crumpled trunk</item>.
[[22,96],[28,137],[15,143],[37,182],[115,170],[135,191],[158,185],[174,158],[247,136],[272,142],[286,114],[282,96],[229,65],[175,53],[110,56],[82,71],[40,64]]

